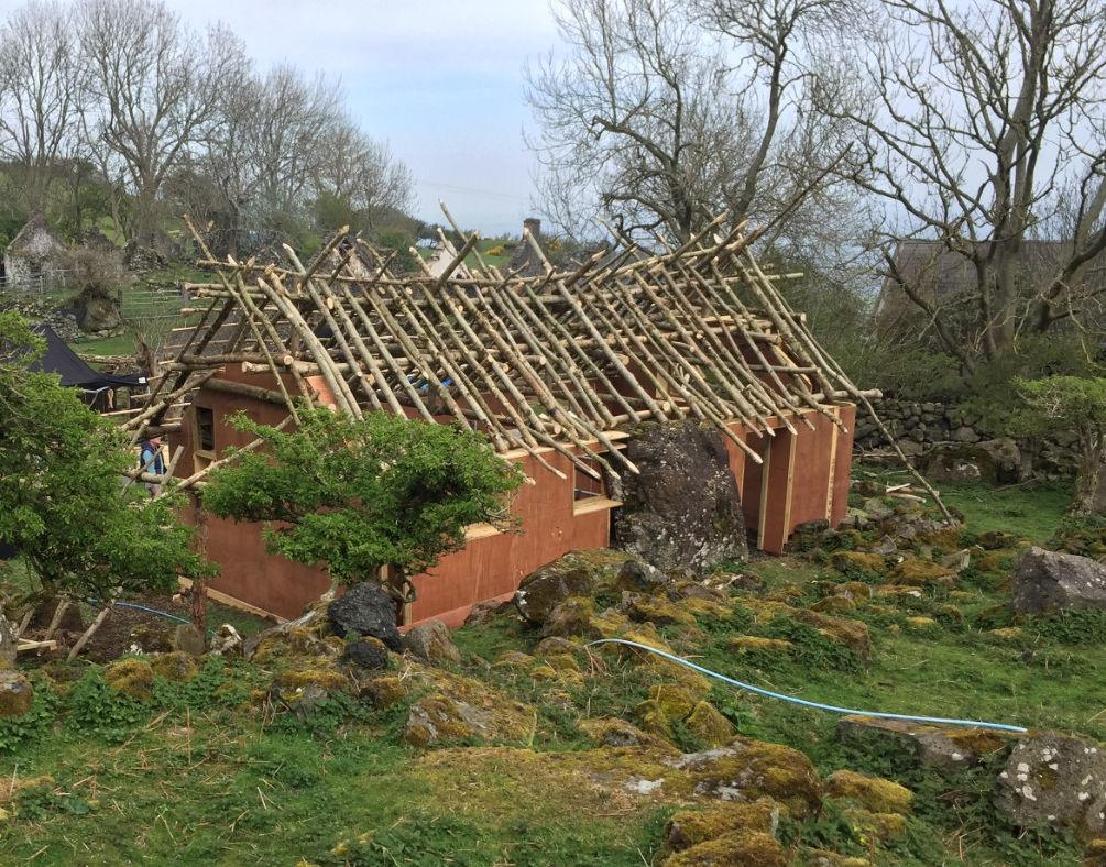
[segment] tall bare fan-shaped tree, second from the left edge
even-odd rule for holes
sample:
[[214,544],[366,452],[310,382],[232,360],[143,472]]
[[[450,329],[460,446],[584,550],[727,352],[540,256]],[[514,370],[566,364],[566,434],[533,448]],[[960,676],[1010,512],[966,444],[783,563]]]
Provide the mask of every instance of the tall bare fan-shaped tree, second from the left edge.
[[247,71],[244,53],[229,31],[213,27],[200,36],[154,0],[85,0],[80,17],[98,105],[92,140],[107,177],[121,178],[134,197],[129,242],[149,244],[158,191],[208,134],[223,88]]

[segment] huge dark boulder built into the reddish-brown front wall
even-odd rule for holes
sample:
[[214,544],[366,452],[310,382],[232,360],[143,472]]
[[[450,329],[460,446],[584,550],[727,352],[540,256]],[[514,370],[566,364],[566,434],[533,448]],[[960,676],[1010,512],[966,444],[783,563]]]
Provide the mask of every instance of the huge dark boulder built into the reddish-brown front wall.
[[626,457],[640,470],[622,479],[616,547],[661,570],[706,570],[748,553],[738,485],[722,435],[684,425],[644,425]]

